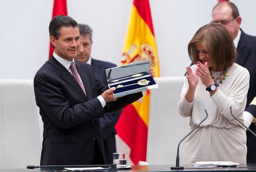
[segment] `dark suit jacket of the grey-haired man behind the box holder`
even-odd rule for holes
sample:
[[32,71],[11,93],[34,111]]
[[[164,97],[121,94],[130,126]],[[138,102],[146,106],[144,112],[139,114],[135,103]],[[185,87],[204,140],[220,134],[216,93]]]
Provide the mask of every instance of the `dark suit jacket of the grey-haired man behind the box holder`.
[[[91,66],[95,74],[101,83],[107,85],[106,69],[116,67],[116,64],[106,61],[99,61],[97,59],[91,59]],[[114,113],[105,113],[103,117],[99,119],[101,123],[101,131],[103,133],[104,149],[106,163],[113,163],[112,153],[116,152],[116,123],[121,115],[122,110]]]

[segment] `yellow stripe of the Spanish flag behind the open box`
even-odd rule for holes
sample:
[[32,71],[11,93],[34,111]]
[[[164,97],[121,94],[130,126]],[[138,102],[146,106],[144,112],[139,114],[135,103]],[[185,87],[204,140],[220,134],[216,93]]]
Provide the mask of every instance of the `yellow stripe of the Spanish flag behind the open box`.
[[[140,17],[137,8],[133,5],[130,13],[130,21],[129,21],[129,29],[127,31],[126,43],[124,45],[123,52],[129,52],[132,46],[135,46],[133,51],[130,52],[130,57],[135,57],[137,54],[143,56],[145,53],[144,48],[152,48],[154,59],[150,59],[152,67],[155,71],[155,77],[159,77],[159,62],[157,56],[157,45],[155,43],[155,37],[151,32],[149,26],[145,23],[144,19]],[[149,46],[147,46],[149,45]],[[152,62],[153,60],[153,62]],[[132,62],[131,59],[129,61],[123,62],[122,64],[128,64]],[[139,114],[142,121],[144,121],[146,126],[149,126],[149,105],[150,105],[150,92],[142,97],[140,100],[132,103],[135,110]]]

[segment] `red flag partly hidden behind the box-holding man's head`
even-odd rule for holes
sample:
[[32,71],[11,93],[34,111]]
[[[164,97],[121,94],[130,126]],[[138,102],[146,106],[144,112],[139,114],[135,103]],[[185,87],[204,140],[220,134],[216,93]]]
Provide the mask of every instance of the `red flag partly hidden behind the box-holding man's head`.
[[[67,8],[66,8],[66,0],[54,0],[52,18],[55,17],[56,15],[68,15]],[[50,43],[49,59],[52,57],[53,51],[54,51],[54,48]]]

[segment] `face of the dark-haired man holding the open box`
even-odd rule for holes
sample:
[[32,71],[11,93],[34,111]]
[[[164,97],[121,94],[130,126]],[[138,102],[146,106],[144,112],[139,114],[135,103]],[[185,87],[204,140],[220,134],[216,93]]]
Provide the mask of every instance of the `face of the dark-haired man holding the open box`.
[[72,61],[77,55],[77,49],[80,45],[80,35],[78,27],[61,27],[60,37],[58,40],[50,36],[50,41],[55,46],[55,53],[66,59]]

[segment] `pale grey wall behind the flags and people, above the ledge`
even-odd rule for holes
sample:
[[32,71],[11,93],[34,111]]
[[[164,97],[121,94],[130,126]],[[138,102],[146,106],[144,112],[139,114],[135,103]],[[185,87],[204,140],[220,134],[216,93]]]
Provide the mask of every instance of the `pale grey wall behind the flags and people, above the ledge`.
[[[255,0],[232,1],[242,28],[256,35]],[[48,59],[48,24],[53,0],[8,0],[0,5],[1,79],[33,79]],[[67,0],[68,15],[91,25],[93,57],[121,64],[132,0]],[[217,0],[150,0],[160,75],[183,75],[190,64],[186,47],[194,32],[211,21]]]

